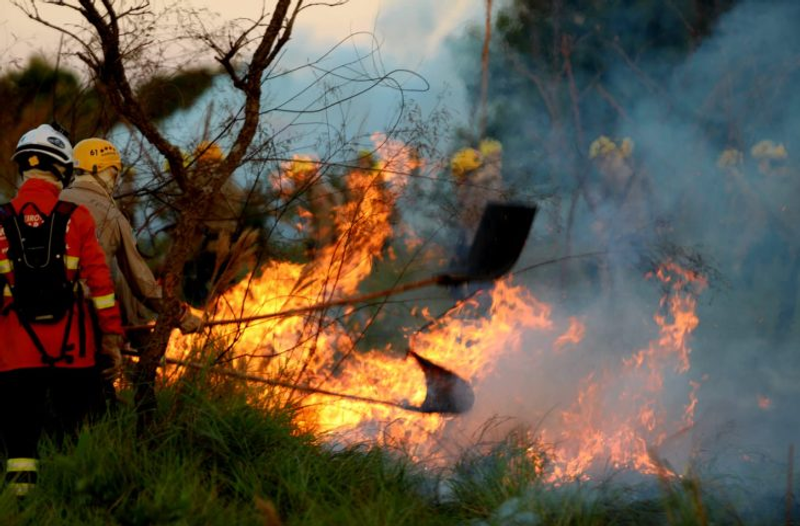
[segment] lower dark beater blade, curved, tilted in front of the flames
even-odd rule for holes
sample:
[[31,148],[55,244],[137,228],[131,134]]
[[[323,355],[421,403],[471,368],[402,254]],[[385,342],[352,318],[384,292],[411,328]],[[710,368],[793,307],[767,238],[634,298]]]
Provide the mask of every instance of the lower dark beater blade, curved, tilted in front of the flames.
[[422,372],[425,373],[425,384],[428,389],[425,400],[422,405],[414,409],[415,411],[461,414],[472,409],[475,393],[466,380],[412,350],[408,353],[417,360]]

